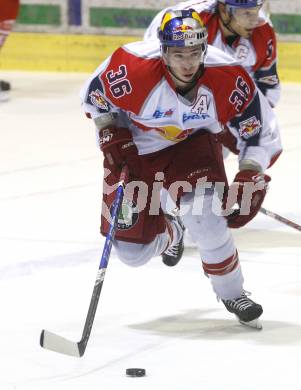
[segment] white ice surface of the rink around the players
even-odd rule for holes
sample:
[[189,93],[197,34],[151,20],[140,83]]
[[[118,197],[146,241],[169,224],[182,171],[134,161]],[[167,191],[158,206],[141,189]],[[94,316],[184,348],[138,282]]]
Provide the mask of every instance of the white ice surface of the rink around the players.
[[[101,154],[78,98],[87,77],[1,72],[13,91],[0,104],[0,389],[300,390],[301,232],[262,214],[233,232],[262,331],[217,302],[195,248],[174,268],[112,253],[84,357],[39,346],[43,328],[80,339],[104,242]],[[301,84],[284,84],[284,152],[264,204],[299,224],[300,107]],[[230,156],[230,178],[236,168]]]

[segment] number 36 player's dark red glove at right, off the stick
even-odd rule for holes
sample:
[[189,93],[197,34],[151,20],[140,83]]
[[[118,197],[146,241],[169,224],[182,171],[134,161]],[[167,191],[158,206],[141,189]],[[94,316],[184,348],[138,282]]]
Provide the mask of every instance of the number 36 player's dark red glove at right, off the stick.
[[255,217],[265,198],[270,180],[270,176],[257,171],[245,170],[237,173],[223,201],[226,214],[235,203],[239,206],[239,209],[226,216],[230,228],[240,228]]

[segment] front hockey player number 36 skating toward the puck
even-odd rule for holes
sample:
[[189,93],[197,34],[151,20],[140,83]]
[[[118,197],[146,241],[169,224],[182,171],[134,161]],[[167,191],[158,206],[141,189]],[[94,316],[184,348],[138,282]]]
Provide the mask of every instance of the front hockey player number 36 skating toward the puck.
[[[117,49],[81,91],[104,154],[101,231],[108,231],[108,210],[125,163],[132,181],[113,243],[120,260],[136,267],[162,255],[166,265],[176,265],[185,226],[199,245],[216,295],[240,321],[253,325],[262,307],[244,291],[229,227],[252,220],[264,200],[270,181],[265,170],[281,153],[275,116],[248,73],[207,45],[207,30],[195,10],[167,12],[159,39]],[[218,142],[225,125],[240,150],[239,171],[230,187]],[[216,211],[216,202],[221,209],[218,183],[226,186],[226,217]],[[156,210],[154,189],[160,185],[176,198],[180,216]],[[246,186],[253,191],[243,211]],[[234,188],[237,199],[230,196]],[[230,214],[235,200],[240,211]]]

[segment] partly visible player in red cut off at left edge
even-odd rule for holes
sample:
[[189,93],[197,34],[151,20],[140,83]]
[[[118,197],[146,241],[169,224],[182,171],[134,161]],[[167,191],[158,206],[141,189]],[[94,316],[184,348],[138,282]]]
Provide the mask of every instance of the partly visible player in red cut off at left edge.
[[[1,48],[17,18],[19,5],[19,0],[0,0],[0,56]],[[9,82],[0,80],[0,102],[8,99],[10,88]]]

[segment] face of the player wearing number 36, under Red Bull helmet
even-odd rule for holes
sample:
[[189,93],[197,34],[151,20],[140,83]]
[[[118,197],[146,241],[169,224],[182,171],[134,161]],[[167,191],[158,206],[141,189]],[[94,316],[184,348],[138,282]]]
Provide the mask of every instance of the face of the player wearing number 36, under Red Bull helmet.
[[[171,68],[177,86],[181,87],[193,80],[201,63],[201,46],[168,47],[163,55],[165,63]],[[181,83],[182,81],[182,83]]]

